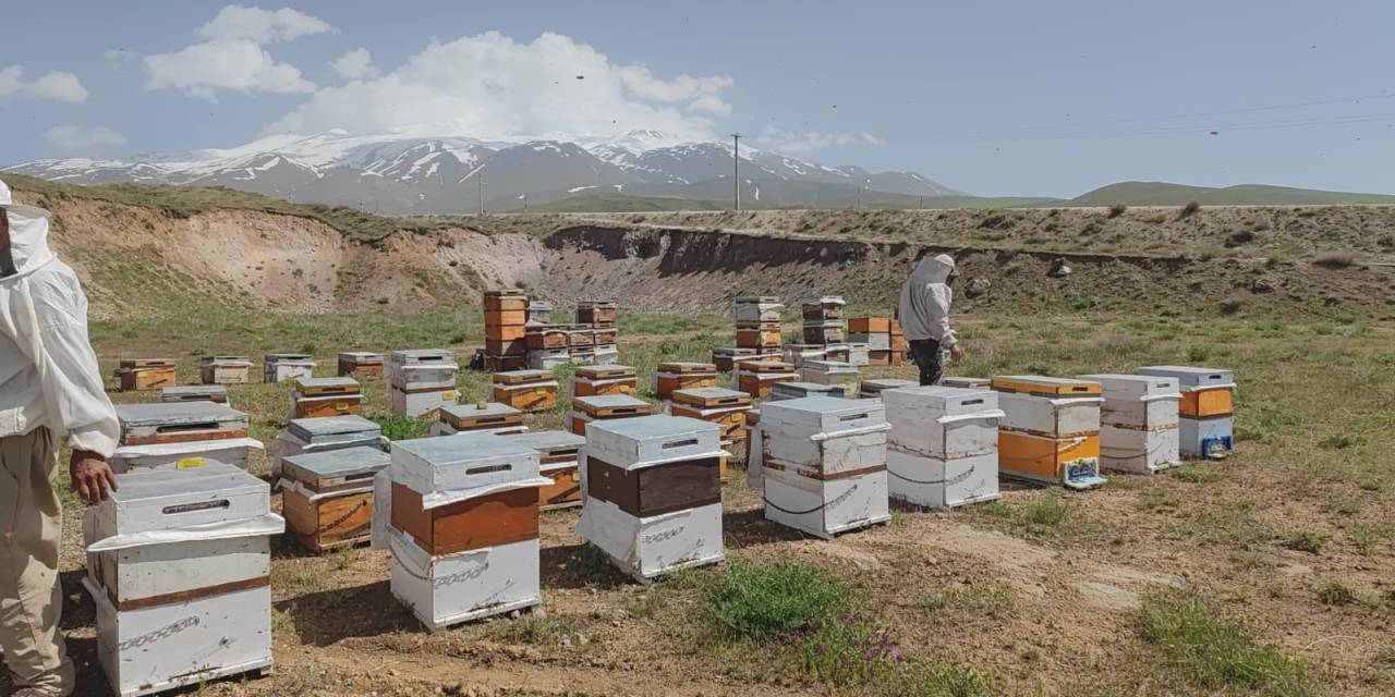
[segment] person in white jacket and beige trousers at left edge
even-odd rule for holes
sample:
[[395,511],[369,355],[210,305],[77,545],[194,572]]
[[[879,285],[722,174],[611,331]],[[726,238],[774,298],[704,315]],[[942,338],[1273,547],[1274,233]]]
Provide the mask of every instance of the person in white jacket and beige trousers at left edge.
[[66,696],[57,445],[73,447],[73,491],[95,503],[116,489],[106,459],[121,429],[88,342],[82,286],[49,250],[49,212],[14,205],[0,181],[0,651],[15,697]]

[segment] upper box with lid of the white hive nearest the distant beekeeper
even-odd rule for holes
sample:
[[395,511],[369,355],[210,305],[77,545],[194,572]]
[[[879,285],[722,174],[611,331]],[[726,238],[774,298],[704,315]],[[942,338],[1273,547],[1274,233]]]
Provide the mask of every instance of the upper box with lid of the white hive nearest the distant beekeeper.
[[891,424],[887,447],[940,460],[997,453],[997,397],[992,390],[937,386],[882,392]]

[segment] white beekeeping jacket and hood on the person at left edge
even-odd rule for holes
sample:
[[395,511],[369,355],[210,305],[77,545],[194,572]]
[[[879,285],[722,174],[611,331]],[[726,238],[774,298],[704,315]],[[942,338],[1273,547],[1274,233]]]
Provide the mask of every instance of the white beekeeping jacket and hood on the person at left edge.
[[[86,296],[77,273],[49,250],[49,212],[13,205],[14,272],[0,277],[0,438],[47,427],[67,445],[112,454],[121,435],[86,330]],[[10,269],[0,262],[0,275]]]

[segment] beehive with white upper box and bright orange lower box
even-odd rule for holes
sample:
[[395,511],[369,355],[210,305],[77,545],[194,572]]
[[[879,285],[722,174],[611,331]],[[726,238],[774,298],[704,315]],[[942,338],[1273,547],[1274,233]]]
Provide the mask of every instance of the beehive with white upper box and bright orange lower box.
[[999,471],[1070,489],[1105,484],[1099,475],[1099,383],[1039,375],[993,378],[1003,410]]

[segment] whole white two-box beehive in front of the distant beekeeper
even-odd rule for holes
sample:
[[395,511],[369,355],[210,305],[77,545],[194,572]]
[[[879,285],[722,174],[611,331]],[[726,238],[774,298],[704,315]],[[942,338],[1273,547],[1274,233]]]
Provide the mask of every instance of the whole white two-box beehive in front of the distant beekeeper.
[[996,500],[1003,411],[986,389],[914,386],[880,393],[893,499],[930,509]]

